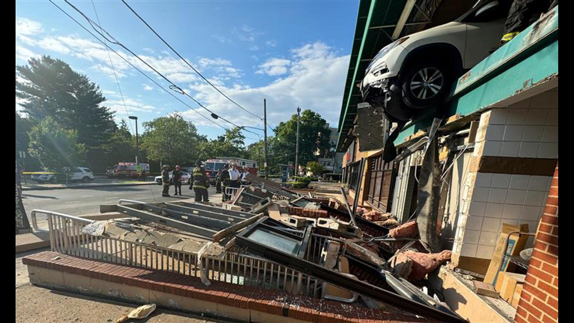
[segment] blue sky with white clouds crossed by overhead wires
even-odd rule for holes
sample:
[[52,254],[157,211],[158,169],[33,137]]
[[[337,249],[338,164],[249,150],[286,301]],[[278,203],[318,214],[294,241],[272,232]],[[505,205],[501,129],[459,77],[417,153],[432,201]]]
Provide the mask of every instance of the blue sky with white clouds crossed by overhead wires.
[[[56,3],[89,28],[72,7],[63,1]],[[97,21],[91,1],[71,3]],[[104,29],[204,106],[236,124],[261,128],[261,121],[201,80],[121,1],[94,3]],[[302,109],[320,113],[336,126],[358,1],[128,3],[193,67],[247,110],[262,116],[266,98],[269,124],[274,126],[286,120],[300,105]],[[124,107],[106,49],[52,3],[16,1],[15,16],[17,65],[42,54],[66,61],[100,85],[108,99],[105,104],[117,111],[117,120],[126,118],[126,107],[129,114],[139,117],[139,122],[179,111],[200,133],[213,138],[223,132],[111,53],[126,102]],[[165,80],[125,50],[117,45],[111,47],[168,87]],[[191,99],[173,94],[189,106],[198,107]],[[16,109],[20,109],[18,100]],[[209,116],[201,108],[197,111]],[[230,126],[222,120],[216,122]],[[245,134],[258,138],[252,133]]]

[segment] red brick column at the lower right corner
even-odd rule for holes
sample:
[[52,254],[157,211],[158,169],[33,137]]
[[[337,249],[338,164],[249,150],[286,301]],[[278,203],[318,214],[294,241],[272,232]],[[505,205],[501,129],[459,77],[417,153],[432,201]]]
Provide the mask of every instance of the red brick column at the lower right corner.
[[514,321],[558,322],[558,163]]

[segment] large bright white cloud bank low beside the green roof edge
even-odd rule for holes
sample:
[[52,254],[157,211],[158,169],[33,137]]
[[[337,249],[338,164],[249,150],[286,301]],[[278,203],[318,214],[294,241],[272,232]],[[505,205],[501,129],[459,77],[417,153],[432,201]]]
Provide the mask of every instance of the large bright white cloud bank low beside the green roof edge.
[[[261,87],[235,84],[229,87],[221,86],[220,90],[258,116],[262,115],[263,98],[266,98],[267,120],[272,125],[290,118],[298,105],[301,109],[310,109],[321,114],[332,125],[337,124],[350,57],[336,55],[324,43],[307,44],[293,49],[292,53],[290,69],[272,83]],[[208,84],[197,83],[191,88],[196,91],[191,95],[227,120],[239,125],[262,126],[261,121],[245,111],[238,110],[232,102],[216,93]],[[183,116],[197,124],[213,125],[193,111],[184,111]],[[230,126],[222,120],[217,122]]]

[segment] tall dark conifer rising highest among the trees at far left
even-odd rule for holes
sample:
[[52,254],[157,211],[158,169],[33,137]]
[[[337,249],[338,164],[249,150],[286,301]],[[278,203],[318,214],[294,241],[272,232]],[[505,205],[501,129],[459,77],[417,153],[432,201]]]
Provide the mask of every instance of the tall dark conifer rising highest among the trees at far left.
[[102,168],[106,145],[117,126],[114,113],[99,86],[59,59],[33,58],[28,66],[16,66],[16,97],[23,99],[22,112],[39,122],[52,117],[64,129],[76,129],[77,141],[87,149],[88,165]]

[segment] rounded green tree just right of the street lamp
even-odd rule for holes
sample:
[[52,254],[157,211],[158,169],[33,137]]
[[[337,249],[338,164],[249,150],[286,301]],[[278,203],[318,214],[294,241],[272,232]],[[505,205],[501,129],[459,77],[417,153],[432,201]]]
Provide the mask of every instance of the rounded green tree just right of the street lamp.
[[171,166],[195,163],[200,142],[207,140],[197,134],[195,125],[185,121],[179,113],[144,122],[144,129],[140,145],[148,158]]

